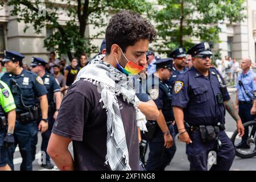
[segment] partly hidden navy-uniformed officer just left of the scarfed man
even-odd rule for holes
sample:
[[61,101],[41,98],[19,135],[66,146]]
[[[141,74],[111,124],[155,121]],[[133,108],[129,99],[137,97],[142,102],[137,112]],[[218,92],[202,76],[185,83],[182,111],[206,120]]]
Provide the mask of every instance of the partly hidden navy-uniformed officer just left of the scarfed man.
[[[46,152],[47,150],[53,123],[57,117],[57,114],[59,113],[60,102],[61,102],[60,86],[59,84],[57,84],[54,76],[49,75],[49,73],[46,73],[46,64],[47,64],[47,61],[43,60],[42,58],[32,57],[31,71],[38,74],[40,77],[42,77],[44,86],[48,91],[47,93],[47,100],[49,105],[48,106],[48,130],[42,133],[42,145],[41,145],[41,150],[44,152]],[[34,142],[35,144],[35,146],[33,147],[34,152],[36,150],[36,143],[37,143],[37,138],[36,138],[36,142]],[[53,165],[50,162],[50,158],[47,152],[46,152],[46,163],[42,164],[41,166],[47,169],[53,168]]]

